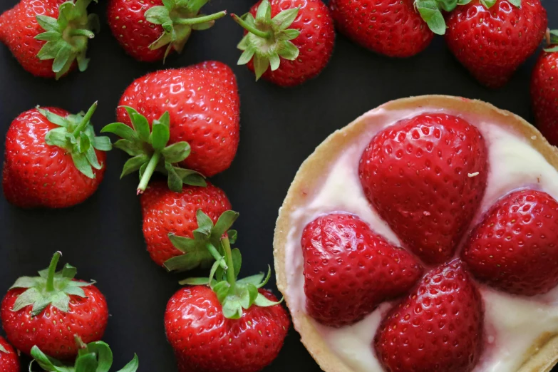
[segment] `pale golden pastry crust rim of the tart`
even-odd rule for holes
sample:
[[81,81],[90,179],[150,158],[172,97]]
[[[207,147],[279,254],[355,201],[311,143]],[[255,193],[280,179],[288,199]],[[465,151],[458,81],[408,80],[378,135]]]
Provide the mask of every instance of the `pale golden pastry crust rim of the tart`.
[[[524,119],[506,110],[500,110],[489,103],[480,100],[453,97],[449,95],[422,95],[412,98],[402,98],[385,103],[379,108],[386,110],[405,110],[420,107],[440,108],[450,111],[465,112],[481,115],[483,118],[493,118],[500,123],[506,123],[515,133],[529,140],[533,148],[558,170],[558,148],[549,145],[539,131]],[[308,190],[315,190],[322,180],[323,170],[334,164],[343,149],[353,143],[364,129],[366,129],[366,114],[357,118],[353,123],[329,135],[314,153],[301,165],[294,177],[289,192],[279,210],[279,218],[274,235],[274,259],[277,286],[284,295],[289,307],[291,299],[286,291],[285,247],[291,227],[291,214],[302,205],[306,205]],[[536,137],[536,138],[535,138]],[[341,358],[329,349],[324,339],[318,333],[311,319],[304,311],[291,311],[294,328],[299,332],[301,341],[311,356],[326,372],[353,372]],[[558,363],[558,334],[543,334],[532,345],[525,355],[525,361],[517,372],[549,372]]]

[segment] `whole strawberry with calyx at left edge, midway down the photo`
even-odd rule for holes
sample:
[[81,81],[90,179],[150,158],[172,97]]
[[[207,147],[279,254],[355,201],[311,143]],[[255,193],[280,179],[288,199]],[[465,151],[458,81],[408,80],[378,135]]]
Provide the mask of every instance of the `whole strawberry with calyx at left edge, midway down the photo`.
[[6,134],[6,199],[19,207],[63,208],[90,197],[103,180],[110,140],[95,137],[91,115],[36,108],[19,115]]

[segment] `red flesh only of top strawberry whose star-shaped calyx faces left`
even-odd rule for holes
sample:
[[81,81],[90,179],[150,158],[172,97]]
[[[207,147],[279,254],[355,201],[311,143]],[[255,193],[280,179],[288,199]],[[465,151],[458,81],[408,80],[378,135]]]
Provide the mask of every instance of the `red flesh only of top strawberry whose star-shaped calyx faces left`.
[[[258,1],[250,9],[254,17],[261,2]],[[287,9],[300,8],[298,16],[289,27],[301,31],[299,37],[291,40],[299,48],[299,56],[295,61],[281,58],[279,68],[276,71],[268,69],[262,78],[286,88],[315,78],[326,68],[334,52],[334,21],[329,9],[321,0],[270,0],[269,4],[272,7],[272,17]],[[253,60],[247,66],[254,71]]]

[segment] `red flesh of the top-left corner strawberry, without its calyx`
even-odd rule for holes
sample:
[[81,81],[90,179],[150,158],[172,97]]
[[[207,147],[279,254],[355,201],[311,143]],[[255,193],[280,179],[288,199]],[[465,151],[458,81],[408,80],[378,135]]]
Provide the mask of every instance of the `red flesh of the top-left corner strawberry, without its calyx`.
[[[45,30],[38,25],[36,16],[44,15],[58,19],[58,6],[66,0],[21,0],[19,4],[0,16],[0,41],[10,49],[19,64],[34,76],[55,78],[52,60],[37,58],[46,41],[35,36]],[[72,68],[76,68],[76,63]]]

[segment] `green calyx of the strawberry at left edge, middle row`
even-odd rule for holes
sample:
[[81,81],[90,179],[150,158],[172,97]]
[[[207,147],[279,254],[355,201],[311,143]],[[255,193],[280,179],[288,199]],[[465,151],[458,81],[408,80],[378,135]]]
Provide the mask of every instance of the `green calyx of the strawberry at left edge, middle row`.
[[95,150],[110,151],[112,145],[108,137],[95,136],[95,130],[91,124],[91,116],[97,109],[97,103],[93,103],[87,113],[68,115],[62,118],[51,111],[37,106],[37,110],[48,121],[59,128],[48,131],[45,135],[47,145],[63,148],[72,156],[76,168],[89,178],[95,178],[93,168],[100,170],[100,164]]

